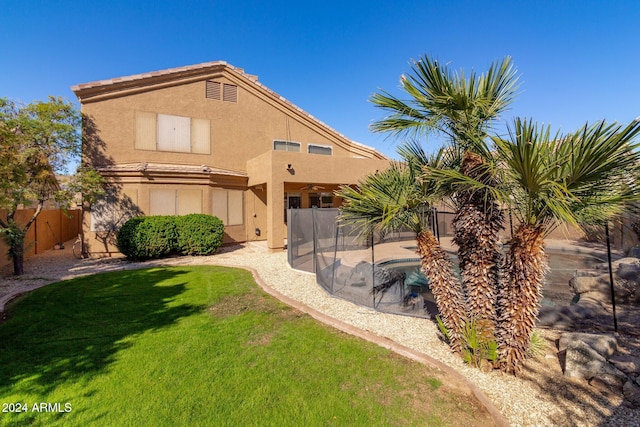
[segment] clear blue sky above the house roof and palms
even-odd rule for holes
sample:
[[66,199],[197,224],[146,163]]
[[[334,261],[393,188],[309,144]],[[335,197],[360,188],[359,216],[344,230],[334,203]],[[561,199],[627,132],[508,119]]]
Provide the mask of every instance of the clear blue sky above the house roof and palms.
[[[78,83],[224,60],[352,138],[369,131],[409,61],[486,70],[511,56],[520,94],[505,114],[554,130],[640,115],[640,2],[0,0],[0,97],[58,95]],[[437,140],[429,141],[433,146]]]

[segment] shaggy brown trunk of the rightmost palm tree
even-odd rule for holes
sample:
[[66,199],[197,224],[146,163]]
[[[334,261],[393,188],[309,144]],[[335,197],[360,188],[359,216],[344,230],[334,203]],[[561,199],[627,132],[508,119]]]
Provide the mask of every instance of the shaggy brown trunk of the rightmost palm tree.
[[522,224],[511,239],[498,294],[500,368],[516,373],[525,359],[538,317],[547,272],[544,226]]

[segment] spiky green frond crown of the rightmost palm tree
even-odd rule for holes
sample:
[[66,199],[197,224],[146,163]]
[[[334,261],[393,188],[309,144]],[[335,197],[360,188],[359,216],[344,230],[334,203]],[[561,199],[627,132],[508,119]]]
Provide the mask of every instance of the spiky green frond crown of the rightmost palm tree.
[[614,206],[640,200],[632,178],[640,167],[638,133],[638,120],[624,128],[598,122],[563,136],[516,119],[509,139],[492,139],[520,219],[577,225],[582,209],[597,206],[611,213]]

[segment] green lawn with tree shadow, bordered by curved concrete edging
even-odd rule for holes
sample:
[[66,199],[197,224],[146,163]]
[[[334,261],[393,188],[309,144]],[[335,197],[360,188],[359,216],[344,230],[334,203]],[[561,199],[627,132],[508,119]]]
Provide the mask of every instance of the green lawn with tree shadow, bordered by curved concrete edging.
[[491,424],[435,371],[285,306],[244,270],[99,274],[8,313],[0,403],[27,411],[0,425]]

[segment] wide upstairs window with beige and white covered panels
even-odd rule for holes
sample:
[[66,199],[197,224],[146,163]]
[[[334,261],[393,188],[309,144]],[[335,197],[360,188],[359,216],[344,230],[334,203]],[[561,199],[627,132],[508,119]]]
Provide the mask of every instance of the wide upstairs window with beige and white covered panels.
[[179,153],[211,153],[211,124],[206,119],[136,112],[135,148]]

